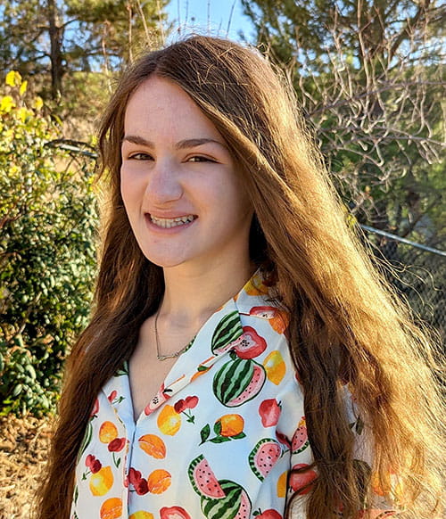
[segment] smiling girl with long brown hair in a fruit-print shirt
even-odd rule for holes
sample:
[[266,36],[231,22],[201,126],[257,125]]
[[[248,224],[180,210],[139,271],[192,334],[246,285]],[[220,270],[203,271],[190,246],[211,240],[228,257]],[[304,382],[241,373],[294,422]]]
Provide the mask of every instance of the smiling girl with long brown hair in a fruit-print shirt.
[[214,37],[146,54],[100,152],[111,218],[39,517],[438,511],[433,351],[268,62]]

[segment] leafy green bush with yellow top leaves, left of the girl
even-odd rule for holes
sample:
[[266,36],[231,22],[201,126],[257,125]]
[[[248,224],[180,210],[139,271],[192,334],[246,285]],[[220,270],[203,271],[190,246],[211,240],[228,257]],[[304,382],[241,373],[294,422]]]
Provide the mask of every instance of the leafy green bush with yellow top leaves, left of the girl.
[[9,72],[0,91],[0,414],[54,410],[95,276],[94,162],[60,137]]

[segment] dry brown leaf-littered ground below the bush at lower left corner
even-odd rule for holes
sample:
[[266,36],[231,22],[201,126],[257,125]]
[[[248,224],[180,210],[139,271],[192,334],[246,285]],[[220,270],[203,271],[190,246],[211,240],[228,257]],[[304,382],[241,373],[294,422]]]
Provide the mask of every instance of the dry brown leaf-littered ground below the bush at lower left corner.
[[47,418],[0,419],[0,519],[29,519],[49,438]]

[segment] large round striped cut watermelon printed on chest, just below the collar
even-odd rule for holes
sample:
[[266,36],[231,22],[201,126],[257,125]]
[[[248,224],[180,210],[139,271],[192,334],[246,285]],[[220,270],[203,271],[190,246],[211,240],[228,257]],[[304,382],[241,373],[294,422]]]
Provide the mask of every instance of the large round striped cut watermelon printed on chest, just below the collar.
[[234,351],[231,358],[215,374],[212,389],[224,406],[237,408],[259,394],[266,380],[266,372],[252,358],[238,358]]

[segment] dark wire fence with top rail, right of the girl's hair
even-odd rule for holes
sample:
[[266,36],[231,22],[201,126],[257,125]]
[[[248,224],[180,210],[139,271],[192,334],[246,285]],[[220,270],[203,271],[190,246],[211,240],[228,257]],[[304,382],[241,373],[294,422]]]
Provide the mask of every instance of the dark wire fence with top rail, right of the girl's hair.
[[434,328],[446,344],[446,251],[361,226],[378,259],[392,266],[388,280],[409,303],[417,321]]

